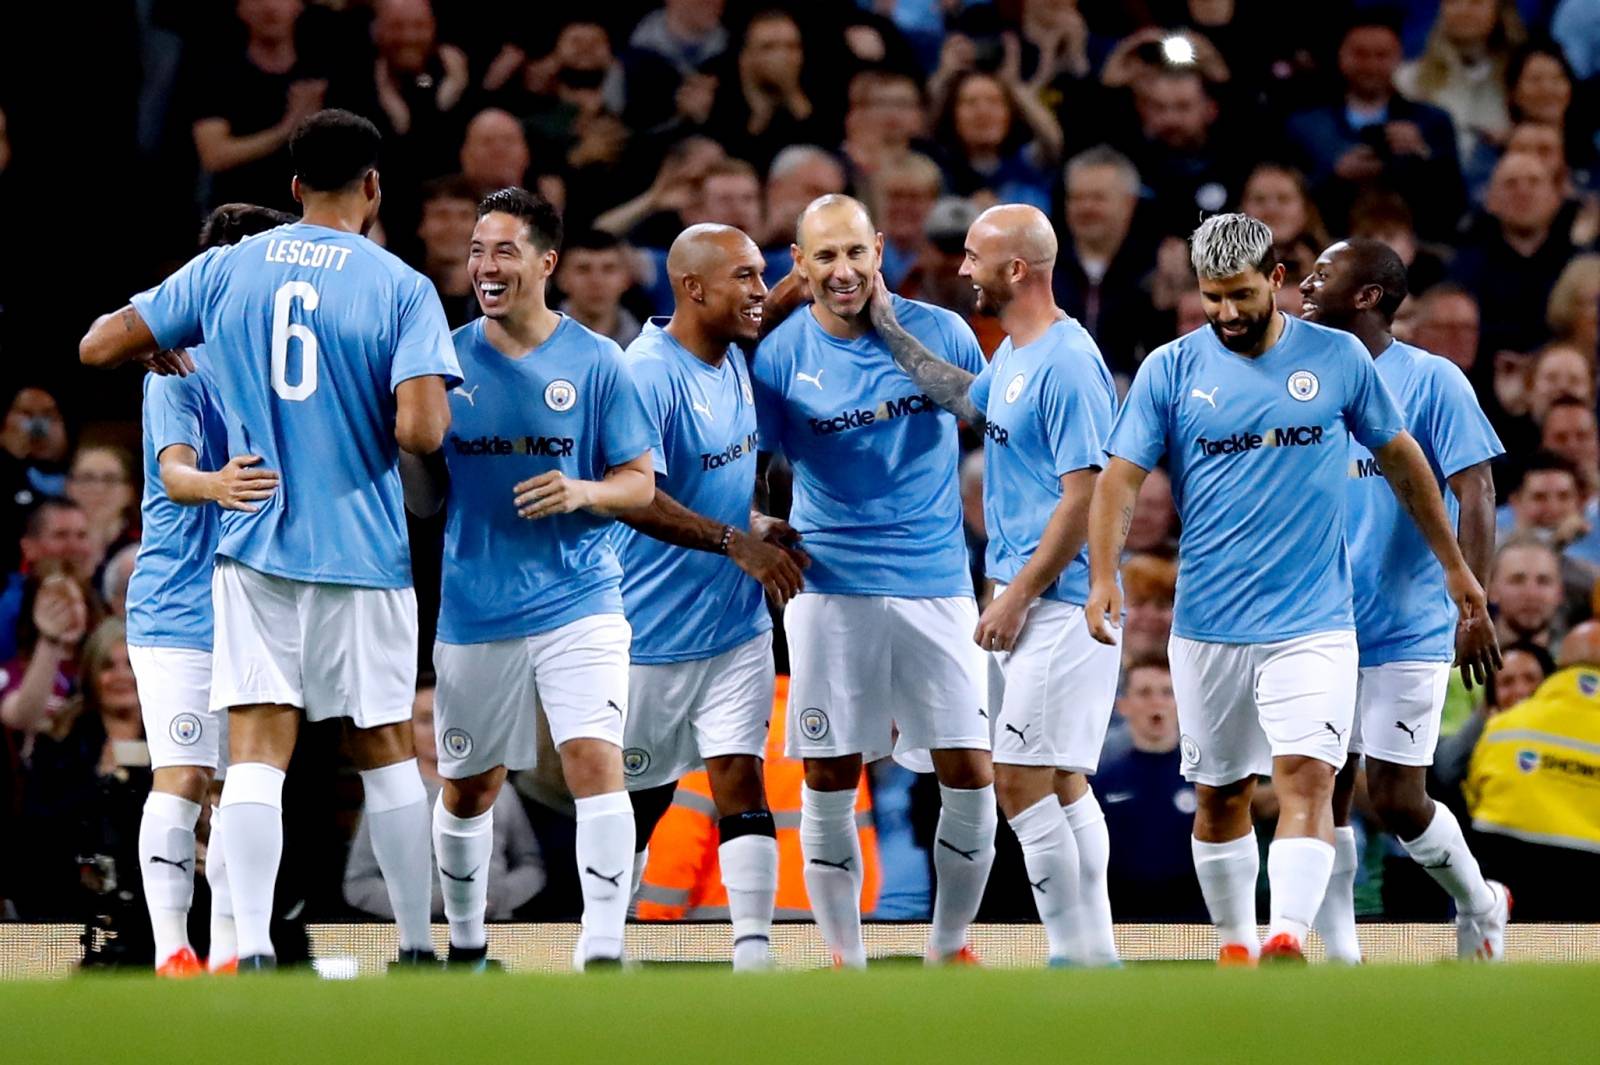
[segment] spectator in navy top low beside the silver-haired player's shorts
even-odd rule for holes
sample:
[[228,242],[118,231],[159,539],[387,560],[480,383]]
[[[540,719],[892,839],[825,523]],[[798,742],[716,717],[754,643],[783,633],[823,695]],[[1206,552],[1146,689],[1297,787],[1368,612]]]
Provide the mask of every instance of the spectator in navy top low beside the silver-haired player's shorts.
[[1110,833],[1112,915],[1118,921],[1206,919],[1189,838],[1195,790],[1182,777],[1178,704],[1165,656],[1136,657],[1123,670],[1117,713],[1133,747],[1101,763],[1094,790]]

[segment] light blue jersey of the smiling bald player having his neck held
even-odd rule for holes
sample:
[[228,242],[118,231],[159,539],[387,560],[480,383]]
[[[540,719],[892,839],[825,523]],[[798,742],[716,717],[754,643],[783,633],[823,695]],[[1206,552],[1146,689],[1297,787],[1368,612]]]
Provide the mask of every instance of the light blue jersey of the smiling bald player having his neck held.
[[[901,325],[978,374],[984,355],[960,315],[894,296]],[[971,595],[955,416],[894,365],[875,331],[842,341],[811,310],[762,341],[750,368],[763,451],[794,467],[789,523],[811,555],[805,584],[835,595]]]

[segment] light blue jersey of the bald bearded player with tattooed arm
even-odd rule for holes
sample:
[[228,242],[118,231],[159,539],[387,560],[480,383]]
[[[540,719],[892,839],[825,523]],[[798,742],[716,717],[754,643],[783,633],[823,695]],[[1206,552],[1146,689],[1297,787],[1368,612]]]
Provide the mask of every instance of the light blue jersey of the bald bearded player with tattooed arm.
[[[984,411],[984,526],[987,574],[1010,584],[1038,550],[1061,502],[1066,473],[1106,465],[1117,385],[1094,337],[1072,318],[1032,344],[1000,342],[970,390]],[[1085,544],[1043,592],[1083,606],[1090,595]]]

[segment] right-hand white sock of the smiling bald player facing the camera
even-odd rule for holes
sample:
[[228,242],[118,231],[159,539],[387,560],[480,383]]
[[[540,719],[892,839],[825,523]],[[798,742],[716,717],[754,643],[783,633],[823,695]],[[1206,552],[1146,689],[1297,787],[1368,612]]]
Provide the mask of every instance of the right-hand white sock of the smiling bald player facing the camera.
[[933,929],[928,953],[954,955],[966,945],[966,929],[978,916],[995,864],[995,788],[939,785],[939,827],[933,836]]

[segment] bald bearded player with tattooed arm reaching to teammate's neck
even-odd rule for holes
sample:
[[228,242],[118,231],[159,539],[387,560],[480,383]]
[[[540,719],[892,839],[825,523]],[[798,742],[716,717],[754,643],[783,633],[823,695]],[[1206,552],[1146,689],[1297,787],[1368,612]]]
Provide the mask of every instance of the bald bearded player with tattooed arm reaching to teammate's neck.
[[1094,339],[1056,305],[1056,233],[1038,208],[989,208],[965,251],[962,277],[1006,331],[982,373],[941,360],[902,328],[882,277],[872,323],[917,387],[984,430],[995,596],[973,640],[990,656],[995,790],[1022,844],[1051,964],[1117,964],[1110,843],[1088,774],[1110,724],[1118,656],[1083,624],[1090,497],[1117,390]]

